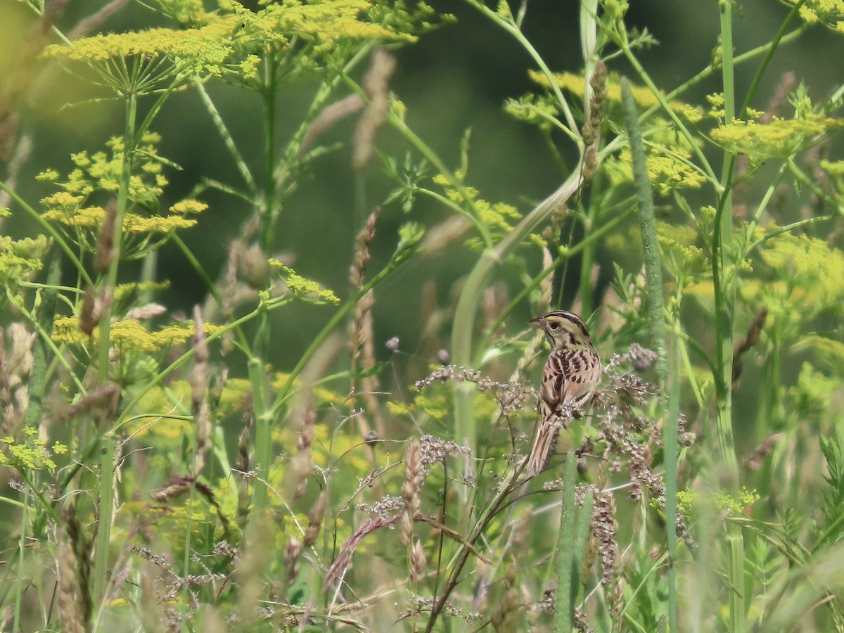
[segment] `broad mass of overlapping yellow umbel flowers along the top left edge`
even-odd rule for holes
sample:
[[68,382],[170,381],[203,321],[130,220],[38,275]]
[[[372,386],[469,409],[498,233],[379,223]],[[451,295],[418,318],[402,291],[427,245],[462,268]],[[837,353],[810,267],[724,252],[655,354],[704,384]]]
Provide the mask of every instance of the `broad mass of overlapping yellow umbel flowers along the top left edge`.
[[354,55],[365,41],[414,41],[415,24],[426,28],[432,14],[424,4],[409,14],[399,5],[375,8],[369,0],[260,4],[265,6],[252,11],[219,0],[219,9],[207,13],[201,3],[159,0],[162,12],[184,28],[93,35],[47,46],[43,54],[88,62],[100,83],[119,95],[149,94],[210,77],[249,83],[262,57],[277,52],[286,60],[279,71],[290,80]]

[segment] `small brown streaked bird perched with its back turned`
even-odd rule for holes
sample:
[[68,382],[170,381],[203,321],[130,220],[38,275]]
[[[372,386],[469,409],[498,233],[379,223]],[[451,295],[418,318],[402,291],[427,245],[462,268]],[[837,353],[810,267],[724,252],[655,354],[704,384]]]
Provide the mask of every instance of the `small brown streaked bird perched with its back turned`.
[[539,387],[536,440],[527,458],[527,473],[533,476],[545,468],[560,428],[565,428],[571,415],[562,409],[567,405],[582,408],[590,403],[603,368],[581,317],[560,310],[531,323],[542,329],[551,345]]

